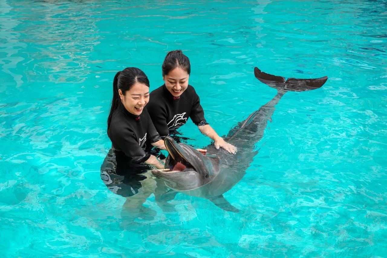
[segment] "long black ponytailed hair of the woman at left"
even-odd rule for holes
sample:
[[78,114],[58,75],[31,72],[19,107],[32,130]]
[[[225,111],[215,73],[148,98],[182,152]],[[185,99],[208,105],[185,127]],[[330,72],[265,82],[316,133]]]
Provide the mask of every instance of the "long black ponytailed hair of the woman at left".
[[118,89],[122,91],[125,96],[126,92],[132,88],[135,83],[142,83],[149,87],[148,77],[143,71],[136,67],[127,67],[120,72],[117,72],[113,80],[113,100],[111,101],[111,108],[108,117],[108,131],[110,128],[111,116],[114,110],[118,108],[120,104],[120,95]]

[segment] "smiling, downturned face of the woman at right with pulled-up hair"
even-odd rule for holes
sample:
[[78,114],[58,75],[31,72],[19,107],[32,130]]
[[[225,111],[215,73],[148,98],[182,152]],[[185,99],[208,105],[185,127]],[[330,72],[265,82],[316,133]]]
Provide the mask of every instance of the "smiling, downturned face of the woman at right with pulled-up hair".
[[165,86],[174,97],[183,94],[188,87],[189,74],[180,67],[176,67],[163,76]]

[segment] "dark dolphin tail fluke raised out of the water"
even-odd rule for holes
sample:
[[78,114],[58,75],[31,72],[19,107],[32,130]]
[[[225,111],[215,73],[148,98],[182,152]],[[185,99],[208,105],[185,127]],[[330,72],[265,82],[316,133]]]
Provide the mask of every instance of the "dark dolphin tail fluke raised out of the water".
[[320,88],[328,79],[327,76],[324,76],[316,79],[289,78],[285,81],[284,77],[267,74],[257,67],[254,68],[254,75],[262,83],[279,91],[310,91]]

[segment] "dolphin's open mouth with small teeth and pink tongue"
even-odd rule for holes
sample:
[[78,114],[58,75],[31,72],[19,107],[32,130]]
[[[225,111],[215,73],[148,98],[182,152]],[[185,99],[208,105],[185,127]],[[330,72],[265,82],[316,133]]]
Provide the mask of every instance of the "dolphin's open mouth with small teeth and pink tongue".
[[164,144],[169,153],[165,162],[165,169],[153,169],[153,174],[155,172],[156,174],[170,174],[195,171],[194,166],[188,161],[189,155],[172,138],[167,136],[164,139]]

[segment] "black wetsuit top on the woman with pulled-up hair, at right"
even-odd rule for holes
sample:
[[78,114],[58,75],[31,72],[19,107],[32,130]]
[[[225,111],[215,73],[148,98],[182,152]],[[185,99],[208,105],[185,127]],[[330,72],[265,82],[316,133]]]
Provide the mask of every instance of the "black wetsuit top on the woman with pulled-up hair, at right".
[[182,95],[174,97],[164,84],[151,92],[146,108],[163,139],[185,124],[188,117],[197,126],[208,124],[199,96],[191,85],[188,85]]

